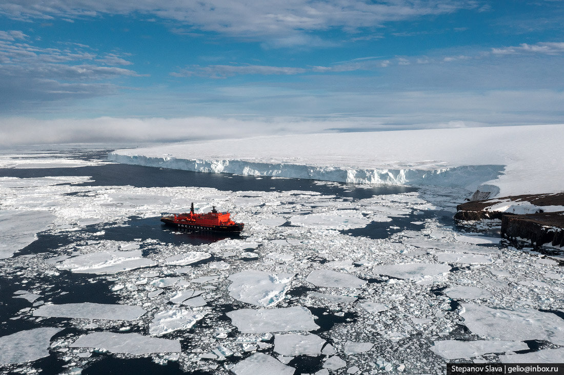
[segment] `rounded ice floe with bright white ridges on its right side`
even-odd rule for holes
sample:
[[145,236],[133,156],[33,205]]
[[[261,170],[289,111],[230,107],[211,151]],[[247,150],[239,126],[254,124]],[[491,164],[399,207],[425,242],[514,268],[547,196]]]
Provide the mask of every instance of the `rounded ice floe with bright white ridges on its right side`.
[[268,274],[265,271],[245,270],[228,277],[229,295],[238,301],[255,306],[270,307],[284,300],[294,274]]

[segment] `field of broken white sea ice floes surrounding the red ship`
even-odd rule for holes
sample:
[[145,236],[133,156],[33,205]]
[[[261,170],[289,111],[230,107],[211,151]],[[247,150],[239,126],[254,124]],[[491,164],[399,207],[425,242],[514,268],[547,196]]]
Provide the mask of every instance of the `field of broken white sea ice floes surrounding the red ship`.
[[[4,372],[33,373],[34,360],[54,355],[78,373],[103,358],[94,352],[239,375],[294,374],[306,357],[319,361],[318,374],[562,361],[562,258],[417,215],[453,213],[468,194],[461,187],[351,202],[297,190],[78,185],[88,180],[0,177],[0,278],[29,302],[0,322],[27,327],[0,333]],[[245,222],[243,235],[202,245],[104,239],[133,216],[158,223],[190,202],[231,212]],[[340,231],[406,217],[417,230],[385,239]],[[14,227],[22,218],[25,226]],[[21,255],[38,233],[70,243]],[[117,302],[50,302],[64,273]]]

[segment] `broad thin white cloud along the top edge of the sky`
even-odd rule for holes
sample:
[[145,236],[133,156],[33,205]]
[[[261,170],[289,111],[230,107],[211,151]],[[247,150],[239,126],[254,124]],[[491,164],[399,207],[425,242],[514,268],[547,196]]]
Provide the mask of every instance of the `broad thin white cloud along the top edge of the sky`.
[[389,21],[475,7],[477,3],[473,0],[7,0],[0,3],[0,14],[19,20],[143,14],[235,37],[261,40],[267,37],[274,46],[288,46],[311,43],[308,31],[330,28],[341,28],[346,32],[374,30]]

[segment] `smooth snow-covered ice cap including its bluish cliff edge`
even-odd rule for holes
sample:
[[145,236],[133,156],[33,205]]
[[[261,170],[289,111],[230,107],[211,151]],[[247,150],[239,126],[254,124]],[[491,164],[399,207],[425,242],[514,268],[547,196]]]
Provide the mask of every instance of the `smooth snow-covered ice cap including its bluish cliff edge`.
[[[494,185],[504,197],[561,191],[561,176],[553,172],[564,159],[562,138],[564,125],[324,133],[184,142],[117,150],[109,157],[127,164],[240,175],[470,190]],[[500,148],[500,142],[511,147]],[[378,152],[367,158],[366,150],[374,145]]]

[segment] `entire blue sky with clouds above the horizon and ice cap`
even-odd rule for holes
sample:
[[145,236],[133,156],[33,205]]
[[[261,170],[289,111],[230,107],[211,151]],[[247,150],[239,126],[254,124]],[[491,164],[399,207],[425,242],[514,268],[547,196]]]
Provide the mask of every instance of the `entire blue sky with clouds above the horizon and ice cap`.
[[564,123],[560,0],[7,0],[0,20],[5,144]]

